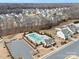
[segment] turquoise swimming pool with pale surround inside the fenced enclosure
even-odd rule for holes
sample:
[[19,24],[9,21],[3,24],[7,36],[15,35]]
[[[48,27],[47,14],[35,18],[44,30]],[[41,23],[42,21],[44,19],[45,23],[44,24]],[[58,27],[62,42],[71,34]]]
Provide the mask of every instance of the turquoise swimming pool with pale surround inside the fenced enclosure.
[[35,32],[27,34],[26,37],[28,37],[30,40],[32,40],[34,43],[37,43],[37,44],[41,44],[41,42],[45,43],[45,40],[43,39],[43,37],[40,34]]

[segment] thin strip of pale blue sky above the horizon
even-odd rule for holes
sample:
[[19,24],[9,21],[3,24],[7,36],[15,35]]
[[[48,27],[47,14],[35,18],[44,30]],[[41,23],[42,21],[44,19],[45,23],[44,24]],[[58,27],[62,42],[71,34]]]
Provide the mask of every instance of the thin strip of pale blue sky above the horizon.
[[79,0],[0,0],[0,3],[79,3]]

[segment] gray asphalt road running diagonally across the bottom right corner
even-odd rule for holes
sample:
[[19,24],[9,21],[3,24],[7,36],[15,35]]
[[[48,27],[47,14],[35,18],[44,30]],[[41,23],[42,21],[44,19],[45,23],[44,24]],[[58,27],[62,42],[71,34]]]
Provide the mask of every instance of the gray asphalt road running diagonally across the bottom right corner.
[[79,56],[79,40],[75,41],[73,44],[61,49],[60,51],[48,56],[46,59],[64,59],[69,55]]

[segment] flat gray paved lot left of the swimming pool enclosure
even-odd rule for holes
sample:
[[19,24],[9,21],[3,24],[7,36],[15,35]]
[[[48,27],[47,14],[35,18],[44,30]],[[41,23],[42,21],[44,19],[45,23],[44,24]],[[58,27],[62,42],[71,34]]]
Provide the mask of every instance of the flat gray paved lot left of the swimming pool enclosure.
[[23,59],[33,59],[32,58],[32,49],[26,45],[24,40],[15,40],[7,44],[12,56],[14,59],[19,59],[23,57]]

